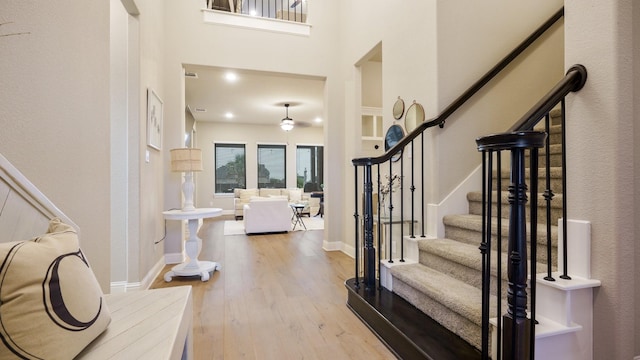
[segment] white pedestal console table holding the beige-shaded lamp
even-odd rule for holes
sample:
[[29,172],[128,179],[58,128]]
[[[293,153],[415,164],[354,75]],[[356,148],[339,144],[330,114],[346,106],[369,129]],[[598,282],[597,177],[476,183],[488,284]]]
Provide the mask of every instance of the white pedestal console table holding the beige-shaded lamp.
[[164,274],[164,281],[169,282],[174,276],[200,275],[202,281],[209,280],[209,272],[220,269],[220,264],[213,261],[198,260],[202,239],[197,235],[198,220],[220,216],[220,208],[198,208],[193,211],[169,210],[162,213],[167,220],[187,220],[189,222],[189,238],[184,243],[184,250],[188,259]]

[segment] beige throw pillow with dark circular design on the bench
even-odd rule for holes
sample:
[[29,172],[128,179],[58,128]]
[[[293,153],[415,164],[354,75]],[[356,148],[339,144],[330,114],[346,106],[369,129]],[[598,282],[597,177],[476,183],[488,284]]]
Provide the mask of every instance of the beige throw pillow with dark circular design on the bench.
[[111,322],[76,231],[0,244],[0,359],[72,359]]

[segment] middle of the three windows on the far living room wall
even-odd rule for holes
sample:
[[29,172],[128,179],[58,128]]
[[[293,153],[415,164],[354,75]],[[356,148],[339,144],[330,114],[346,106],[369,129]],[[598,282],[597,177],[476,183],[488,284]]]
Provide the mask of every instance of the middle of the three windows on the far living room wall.
[[258,145],[258,188],[287,186],[286,146]]

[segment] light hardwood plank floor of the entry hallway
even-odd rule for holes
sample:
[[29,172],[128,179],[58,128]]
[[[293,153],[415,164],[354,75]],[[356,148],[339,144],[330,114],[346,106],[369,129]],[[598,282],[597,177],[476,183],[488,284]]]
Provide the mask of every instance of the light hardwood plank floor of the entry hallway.
[[194,351],[208,359],[395,359],[347,308],[353,259],[322,250],[323,231],[224,236],[204,222],[200,259],[222,269],[207,282],[163,269],[152,288],[193,286]]

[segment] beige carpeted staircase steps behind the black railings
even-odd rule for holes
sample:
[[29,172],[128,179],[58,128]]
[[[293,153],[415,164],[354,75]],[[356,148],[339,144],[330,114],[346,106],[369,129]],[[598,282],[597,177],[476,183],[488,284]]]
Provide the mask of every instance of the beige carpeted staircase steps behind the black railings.
[[[559,111],[551,113],[552,118],[559,116]],[[555,122],[552,121],[552,124]],[[562,215],[562,178],[561,178],[561,146],[560,125],[552,125],[549,137],[551,143],[551,176],[554,200],[552,201],[552,264],[557,264],[557,219]],[[546,184],[542,180],[546,174],[545,151],[541,149],[539,157],[539,197],[538,202],[538,272],[546,271],[546,202],[542,196]],[[528,173],[527,173],[528,176]],[[507,267],[506,248],[508,234],[509,204],[508,191],[509,170],[503,169],[502,189],[494,192],[502,197],[502,306],[506,307]],[[444,327],[459,335],[476,348],[480,348],[481,336],[481,254],[478,249],[482,230],[482,194],[472,192],[467,195],[469,213],[449,215],[443,219],[445,237],[441,239],[418,240],[419,259],[417,263],[396,265],[390,268],[393,292],[406,299],[422,312],[433,318]],[[529,199],[531,201],[531,199]],[[527,214],[529,212],[527,204]],[[492,214],[496,214],[494,208]],[[495,240],[497,221],[493,220],[493,250],[496,251]],[[527,230],[529,233],[529,229]],[[496,259],[494,256],[493,259]],[[497,279],[496,261],[493,261],[492,287]],[[496,291],[491,302],[496,302]],[[495,306],[492,305],[491,309]],[[503,311],[504,312],[504,311]],[[496,314],[491,314],[495,317]]]

